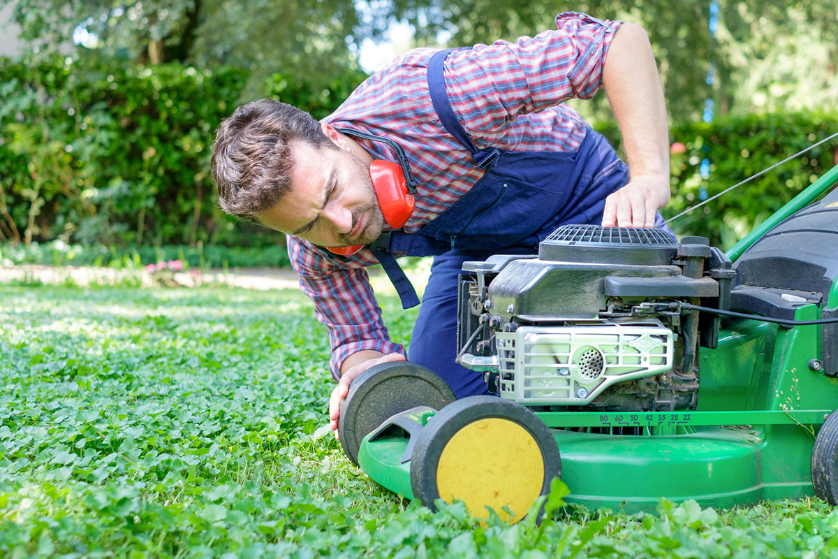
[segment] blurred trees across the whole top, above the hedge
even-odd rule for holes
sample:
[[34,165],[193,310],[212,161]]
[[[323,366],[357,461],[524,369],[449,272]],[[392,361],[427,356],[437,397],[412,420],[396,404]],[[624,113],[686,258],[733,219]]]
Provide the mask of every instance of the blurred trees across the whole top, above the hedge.
[[[551,28],[557,12],[591,13],[646,28],[660,65],[670,116],[697,120],[707,99],[717,113],[838,104],[838,0],[0,0],[13,3],[23,38],[39,51],[85,28],[97,48],[141,63],[182,60],[253,71],[246,96],[274,72],[313,83],[357,69],[357,45],[402,20],[416,44],[514,40]],[[287,71],[285,73],[288,73]],[[708,76],[711,79],[708,79]],[[577,104],[608,116],[604,96]]]

